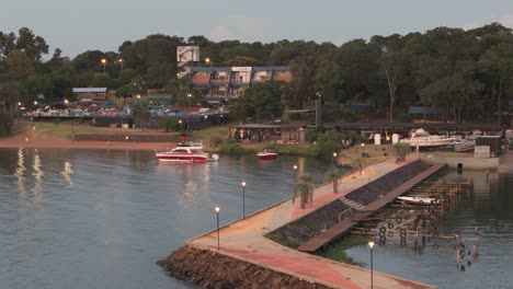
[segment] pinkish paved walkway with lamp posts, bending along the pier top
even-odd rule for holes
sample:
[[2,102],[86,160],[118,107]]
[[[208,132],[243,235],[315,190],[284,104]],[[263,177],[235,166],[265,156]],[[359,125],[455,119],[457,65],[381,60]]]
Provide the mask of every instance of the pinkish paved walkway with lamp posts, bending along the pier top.
[[[407,162],[399,164],[390,159],[366,167],[363,175],[357,172],[345,175],[339,182],[339,194],[333,194],[330,184],[318,187],[314,192],[314,201],[307,204],[306,209],[299,208],[299,201],[293,204],[292,199],[287,199],[247,216],[244,219],[225,224],[219,229],[219,232],[213,230],[201,236],[191,239],[187,241],[187,245],[198,248],[217,250],[219,242],[220,254],[296,276],[300,279],[332,288],[371,288],[371,273],[366,268],[299,252],[277,244],[264,235],[334,199],[345,196],[354,189],[368,184],[372,180],[379,178],[401,165],[415,161],[417,158],[417,155],[412,155],[408,158]],[[404,185],[407,186],[407,184]],[[387,199],[379,199],[379,203],[368,204],[363,210],[380,208],[390,201],[388,198],[391,199],[392,195],[388,196]],[[345,220],[338,226],[344,226],[344,222]],[[376,289],[435,288],[430,285],[379,273],[378,270],[379,267],[375,267],[374,288]]]

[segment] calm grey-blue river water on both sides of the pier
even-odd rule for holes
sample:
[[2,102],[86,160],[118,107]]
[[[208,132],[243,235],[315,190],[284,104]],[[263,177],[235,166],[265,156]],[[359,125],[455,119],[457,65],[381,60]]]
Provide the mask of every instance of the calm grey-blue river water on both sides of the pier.
[[[283,200],[294,171],[315,176],[329,163],[314,158],[221,155],[208,164],[161,164],[148,151],[0,149],[0,288],[194,288],[156,265],[220,221]],[[421,253],[394,244],[374,248],[374,268],[440,288],[513,288],[513,175],[471,177],[474,193],[442,221],[445,234],[481,228],[479,257],[457,270],[453,240]],[[468,241],[470,242],[470,241]],[[467,245],[471,245],[468,243]],[[368,248],[349,250],[368,263]]]

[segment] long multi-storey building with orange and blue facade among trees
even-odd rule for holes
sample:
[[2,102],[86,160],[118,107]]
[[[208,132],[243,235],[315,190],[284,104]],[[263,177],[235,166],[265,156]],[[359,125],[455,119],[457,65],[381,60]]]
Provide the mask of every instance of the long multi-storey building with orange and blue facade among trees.
[[193,67],[190,83],[203,90],[209,103],[238,97],[260,82],[292,80],[289,67]]

